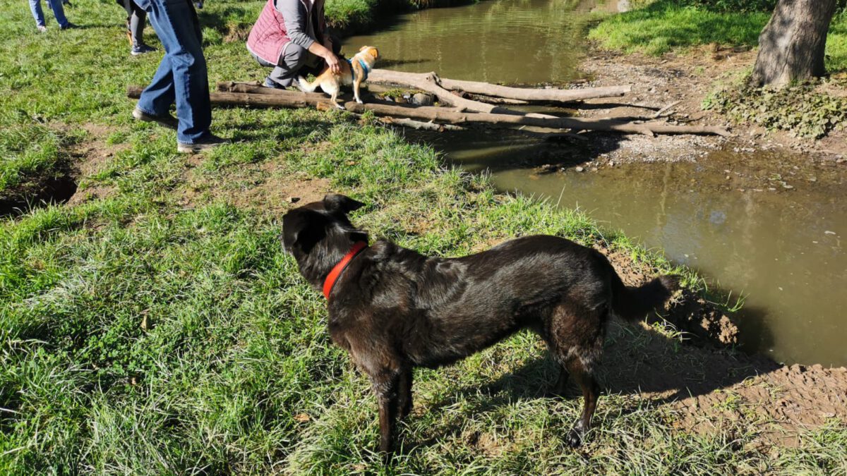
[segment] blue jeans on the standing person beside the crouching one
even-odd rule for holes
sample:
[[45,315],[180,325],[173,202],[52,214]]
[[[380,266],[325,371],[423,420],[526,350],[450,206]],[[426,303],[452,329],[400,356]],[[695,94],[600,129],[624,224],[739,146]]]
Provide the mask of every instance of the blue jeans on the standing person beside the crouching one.
[[170,105],[176,102],[176,117],[180,119],[176,141],[193,144],[207,136],[209,125],[212,125],[212,103],[197,12],[191,0],[136,3],[147,11],[147,18],[165,51],[150,86],[141,91],[137,107],[145,113],[163,116],[169,114]]

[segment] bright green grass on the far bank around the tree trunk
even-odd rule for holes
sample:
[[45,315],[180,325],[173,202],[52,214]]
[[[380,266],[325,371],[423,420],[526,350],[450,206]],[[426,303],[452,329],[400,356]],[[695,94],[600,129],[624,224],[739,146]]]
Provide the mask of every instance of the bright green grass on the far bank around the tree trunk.
[[[767,10],[726,11],[678,0],[637,4],[640,8],[603,19],[590,30],[589,38],[603,47],[651,55],[710,43],[756,47],[759,34],[771,16]],[[830,25],[826,55],[828,71],[847,70],[847,12],[844,9],[835,15]]]

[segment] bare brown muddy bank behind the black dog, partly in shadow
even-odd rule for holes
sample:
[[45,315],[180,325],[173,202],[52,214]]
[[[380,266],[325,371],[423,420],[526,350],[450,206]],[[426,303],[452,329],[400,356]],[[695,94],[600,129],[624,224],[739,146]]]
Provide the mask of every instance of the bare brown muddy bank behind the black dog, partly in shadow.
[[[600,248],[627,285],[655,270]],[[684,335],[668,339],[650,324],[610,326],[602,381],[612,393],[665,406],[674,429],[696,434],[756,430],[756,449],[796,446],[800,433],[847,422],[847,368],[780,365],[735,351],[739,329],[702,297],[684,291],[665,318]]]

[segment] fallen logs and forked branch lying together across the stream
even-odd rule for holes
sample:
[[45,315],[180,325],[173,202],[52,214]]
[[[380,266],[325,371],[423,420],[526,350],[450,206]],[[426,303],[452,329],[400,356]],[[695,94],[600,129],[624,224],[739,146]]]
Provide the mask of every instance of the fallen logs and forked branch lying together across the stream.
[[[448,88],[461,88],[465,92],[473,92],[490,97],[504,97],[515,101],[543,101],[543,102],[567,102],[581,100],[589,97],[621,96],[629,89],[629,86],[616,86],[611,88],[593,88],[586,90],[535,90],[507,86],[489,85],[486,83],[475,83],[473,81],[457,81],[438,78],[435,73],[416,74],[398,73],[384,69],[374,69],[368,76],[368,80],[403,84],[416,89],[429,91],[438,97],[440,104],[448,104],[452,107],[415,106],[412,104],[399,104],[396,102],[381,101],[379,99],[368,99],[364,104],[348,101],[344,103],[347,111],[352,113],[364,113],[371,111],[380,117],[397,119],[396,124],[414,125],[425,127],[420,124],[432,124],[434,129],[441,125],[485,125],[501,128],[521,128],[530,126],[543,128],[551,132],[561,133],[563,129],[571,132],[582,130],[604,130],[623,134],[644,134],[654,136],[655,134],[709,134],[718,136],[730,136],[727,130],[710,126],[686,126],[668,125],[659,121],[636,122],[620,119],[580,119],[560,118],[556,116],[523,113],[501,106],[484,102],[473,101],[458,95]],[[141,87],[130,86],[127,91],[129,97],[139,97]],[[502,96],[501,96],[502,95]],[[250,106],[257,108],[330,108],[329,97],[319,93],[306,93],[299,91],[285,91],[250,83],[222,82],[218,84],[218,92],[210,94],[213,104],[225,106]],[[412,120],[402,120],[412,119]],[[450,129],[450,128],[441,128]]]

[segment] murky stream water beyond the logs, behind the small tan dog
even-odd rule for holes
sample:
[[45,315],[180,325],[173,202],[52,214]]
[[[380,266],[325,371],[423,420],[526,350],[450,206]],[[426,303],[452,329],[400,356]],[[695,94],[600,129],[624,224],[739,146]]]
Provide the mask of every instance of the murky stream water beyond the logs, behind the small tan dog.
[[[352,36],[345,51],[373,45],[382,68],[437,71],[457,80],[534,83],[579,76],[585,15],[596,2],[497,0],[402,15],[374,35]],[[410,62],[410,63],[407,63]]]

